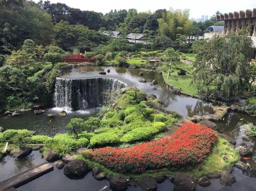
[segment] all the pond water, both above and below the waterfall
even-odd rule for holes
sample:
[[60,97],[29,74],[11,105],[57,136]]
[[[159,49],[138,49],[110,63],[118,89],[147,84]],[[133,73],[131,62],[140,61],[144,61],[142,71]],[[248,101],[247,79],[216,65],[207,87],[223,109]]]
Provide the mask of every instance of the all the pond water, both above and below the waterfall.
[[[110,73],[100,76],[99,71],[107,71]],[[211,103],[200,101],[196,98],[173,94],[163,81],[163,78],[155,72],[144,72],[144,76],[139,76],[139,69],[129,68],[113,68],[113,67],[95,67],[83,66],[65,70],[64,79],[87,79],[97,77],[110,77],[118,79],[127,84],[127,86],[136,86],[140,90],[146,91],[147,94],[154,94],[165,104],[168,110],[177,111],[179,114],[186,116],[203,115],[212,112]],[[143,77],[146,83],[140,83],[138,80]],[[151,86],[150,82],[157,80],[156,86]],[[157,89],[152,89],[156,87]],[[66,117],[49,118],[47,114],[56,114],[62,108],[46,109],[43,115],[35,115],[32,111],[25,112],[21,116],[0,116],[0,126],[6,129],[29,129],[36,131],[38,135],[53,136],[56,133],[65,132],[65,125],[72,117],[81,117],[86,119],[97,113],[98,109],[87,109],[84,111],[70,111]],[[252,159],[248,160],[252,167],[250,172],[242,172],[238,168],[234,168],[233,175],[237,182],[232,187],[224,187],[219,183],[219,179],[211,180],[212,185],[207,188],[197,186],[197,190],[255,190],[256,187],[256,144],[255,140],[244,136],[244,124],[256,125],[256,118],[244,114],[231,112],[225,118],[225,121],[219,122],[218,126],[222,132],[237,140],[238,145],[248,146],[254,153]],[[33,151],[31,155],[24,159],[15,159],[10,156],[0,161],[0,181],[6,180],[11,176],[26,171],[27,169],[45,162],[41,158],[38,151]],[[19,187],[17,190],[109,190],[109,182],[106,180],[96,181],[91,173],[87,174],[83,179],[71,180],[63,174],[63,170],[54,169],[54,171],[41,176],[40,178]],[[172,190],[173,185],[170,181],[158,185],[157,190]],[[140,190],[136,187],[129,187],[128,190]]]

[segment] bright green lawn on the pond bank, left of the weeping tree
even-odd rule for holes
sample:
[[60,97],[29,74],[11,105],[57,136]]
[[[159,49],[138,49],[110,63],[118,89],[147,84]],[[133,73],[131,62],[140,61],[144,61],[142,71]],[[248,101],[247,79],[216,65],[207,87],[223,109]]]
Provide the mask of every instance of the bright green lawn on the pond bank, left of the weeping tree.
[[[178,70],[172,69],[174,72],[170,73],[169,79],[166,80],[167,72],[164,73],[164,79],[167,83],[175,88],[181,88],[181,91],[186,94],[198,95],[197,89],[190,85],[192,75],[178,75]],[[176,80],[177,79],[177,80]]]

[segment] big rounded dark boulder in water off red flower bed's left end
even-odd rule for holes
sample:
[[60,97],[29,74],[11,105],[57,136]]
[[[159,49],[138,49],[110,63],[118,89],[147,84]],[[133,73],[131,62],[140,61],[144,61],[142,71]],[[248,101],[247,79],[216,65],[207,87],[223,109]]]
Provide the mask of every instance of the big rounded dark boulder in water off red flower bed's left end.
[[80,176],[88,171],[88,165],[84,160],[72,160],[64,167],[65,175]]

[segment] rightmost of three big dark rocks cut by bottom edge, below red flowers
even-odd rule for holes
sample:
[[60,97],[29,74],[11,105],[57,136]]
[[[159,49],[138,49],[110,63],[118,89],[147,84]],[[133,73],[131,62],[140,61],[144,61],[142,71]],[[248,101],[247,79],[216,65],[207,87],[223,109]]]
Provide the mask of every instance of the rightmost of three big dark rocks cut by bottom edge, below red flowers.
[[173,183],[174,191],[188,191],[188,190],[196,190],[197,180],[192,176],[188,176],[186,174],[177,173]]

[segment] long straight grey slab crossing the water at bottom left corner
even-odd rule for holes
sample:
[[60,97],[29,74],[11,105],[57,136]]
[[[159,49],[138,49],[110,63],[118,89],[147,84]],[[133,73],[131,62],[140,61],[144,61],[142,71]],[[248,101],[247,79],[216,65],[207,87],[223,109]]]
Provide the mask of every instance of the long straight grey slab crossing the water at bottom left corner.
[[6,190],[10,189],[12,187],[17,188],[19,186],[24,185],[25,183],[28,183],[39,176],[42,176],[50,171],[53,171],[53,165],[46,162],[42,165],[38,165],[32,169],[29,169],[28,171],[25,171],[21,174],[18,174],[16,176],[13,176],[10,179],[7,179],[3,182],[0,182],[0,190]]

